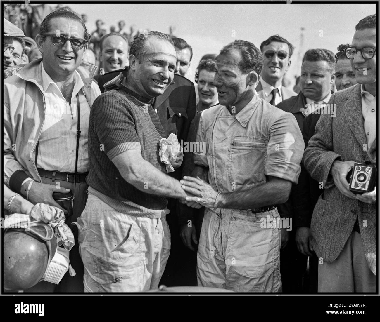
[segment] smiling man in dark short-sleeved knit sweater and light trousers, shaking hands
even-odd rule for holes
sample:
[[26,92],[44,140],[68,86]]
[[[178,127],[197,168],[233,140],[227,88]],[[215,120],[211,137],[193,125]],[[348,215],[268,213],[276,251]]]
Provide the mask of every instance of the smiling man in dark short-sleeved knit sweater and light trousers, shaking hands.
[[166,197],[186,197],[160,162],[165,131],[151,105],[173,80],[171,39],[140,35],[129,63],[127,77],[112,80],[116,89],[100,95],[90,113],[89,198],[78,219],[86,292],[156,289],[170,252]]

